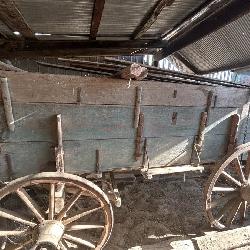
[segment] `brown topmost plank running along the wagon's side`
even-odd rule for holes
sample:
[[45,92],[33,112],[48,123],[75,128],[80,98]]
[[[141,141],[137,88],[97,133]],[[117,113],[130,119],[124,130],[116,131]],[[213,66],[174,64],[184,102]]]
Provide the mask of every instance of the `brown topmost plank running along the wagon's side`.
[[[55,102],[83,104],[134,105],[135,86],[143,87],[143,105],[205,106],[212,90],[216,107],[241,107],[248,99],[248,90],[173,84],[168,82],[133,82],[116,78],[78,77],[25,72],[0,71],[9,79],[14,102]],[[81,90],[80,90],[81,89]],[[80,93],[79,93],[80,92]],[[157,98],[156,98],[157,97]]]

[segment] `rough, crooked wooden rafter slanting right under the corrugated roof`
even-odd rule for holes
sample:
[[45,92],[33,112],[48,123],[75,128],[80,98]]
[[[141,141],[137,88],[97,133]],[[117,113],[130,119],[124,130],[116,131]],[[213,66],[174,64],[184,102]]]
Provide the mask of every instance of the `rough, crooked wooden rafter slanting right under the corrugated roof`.
[[146,31],[152,26],[152,24],[157,20],[158,16],[161,14],[162,10],[172,5],[174,0],[158,0],[156,4],[151,8],[145,17],[143,18],[142,22],[137,26],[135,29],[132,38],[138,39],[146,33]]

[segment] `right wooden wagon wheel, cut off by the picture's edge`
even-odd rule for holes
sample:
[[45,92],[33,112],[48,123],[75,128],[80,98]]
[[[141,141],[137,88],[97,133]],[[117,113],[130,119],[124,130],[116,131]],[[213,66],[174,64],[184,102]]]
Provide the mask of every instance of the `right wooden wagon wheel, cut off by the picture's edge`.
[[238,146],[211,174],[205,187],[205,209],[217,229],[246,221],[250,202],[250,143]]

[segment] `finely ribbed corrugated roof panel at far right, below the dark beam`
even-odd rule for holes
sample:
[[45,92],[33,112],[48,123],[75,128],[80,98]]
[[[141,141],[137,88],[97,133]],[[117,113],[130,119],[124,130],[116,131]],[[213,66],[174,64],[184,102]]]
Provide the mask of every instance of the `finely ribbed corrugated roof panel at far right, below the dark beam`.
[[250,60],[250,13],[180,51],[199,71],[234,68]]

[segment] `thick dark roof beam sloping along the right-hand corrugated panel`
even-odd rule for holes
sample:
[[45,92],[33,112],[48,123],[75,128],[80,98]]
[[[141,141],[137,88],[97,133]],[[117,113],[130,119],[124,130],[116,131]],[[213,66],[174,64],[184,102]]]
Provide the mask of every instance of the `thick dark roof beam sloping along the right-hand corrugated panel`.
[[155,54],[161,60],[250,12],[250,1],[213,0],[164,35],[169,45]]

